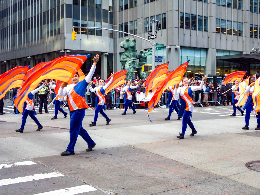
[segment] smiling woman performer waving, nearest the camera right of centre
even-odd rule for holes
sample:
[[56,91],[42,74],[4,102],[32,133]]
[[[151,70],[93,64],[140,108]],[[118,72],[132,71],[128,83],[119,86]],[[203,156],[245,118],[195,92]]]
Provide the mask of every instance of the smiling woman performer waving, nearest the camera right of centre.
[[193,101],[192,101],[192,93],[194,91],[202,89],[204,80],[206,78],[207,78],[207,75],[202,77],[200,86],[188,86],[188,84],[189,84],[188,78],[183,77],[181,80],[183,83],[183,87],[179,87],[179,84],[177,84],[175,86],[174,95],[180,94],[181,98],[186,102],[186,108],[183,113],[182,132],[179,136],[177,136],[177,138],[179,138],[179,139],[184,139],[184,134],[187,129],[187,124],[190,126],[190,128],[192,130],[192,133],[190,134],[191,137],[197,133],[197,131],[196,131],[195,127],[193,126],[191,119],[190,119],[191,113],[194,109]]

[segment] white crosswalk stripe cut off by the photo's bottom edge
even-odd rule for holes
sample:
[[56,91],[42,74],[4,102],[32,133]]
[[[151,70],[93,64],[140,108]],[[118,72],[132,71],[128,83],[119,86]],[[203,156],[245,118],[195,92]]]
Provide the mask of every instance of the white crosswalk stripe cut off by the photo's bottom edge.
[[85,193],[85,192],[90,192],[90,191],[96,191],[92,186],[89,185],[82,185],[82,186],[76,186],[76,187],[69,187],[66,189],[61,189],[61,190],[55,190],[51,192],[43,192],[40,194],[34,194],[34,195],[74,195],[74,194],[80,194],[80,193]]

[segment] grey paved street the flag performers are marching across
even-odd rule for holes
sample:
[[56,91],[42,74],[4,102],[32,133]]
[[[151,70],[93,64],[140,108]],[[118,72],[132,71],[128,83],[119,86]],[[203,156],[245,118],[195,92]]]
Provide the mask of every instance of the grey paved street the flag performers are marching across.
[[[27,118],[24,133],[22,114],[14,116],[8,103],[0,115],[0,194],[260,194],[260,172],[245,164],[260,160],[260,131],[253,112],[249,130],[245,118],[230,117],[232,106],[195,107],[193,124],[198,131],[185,139],[176,138],[182,120],[176,112],[165,121],[168,109],[106,110],[109,125],[99,115],[96,127],[88,126],[94,110],[87,109],[82,126],[96,146],[78,137],[75,155],[61,156],[69,142],[69,117],[50,120],[38,114],[43,125]],[[67,112],[68,110],[65,109]]]

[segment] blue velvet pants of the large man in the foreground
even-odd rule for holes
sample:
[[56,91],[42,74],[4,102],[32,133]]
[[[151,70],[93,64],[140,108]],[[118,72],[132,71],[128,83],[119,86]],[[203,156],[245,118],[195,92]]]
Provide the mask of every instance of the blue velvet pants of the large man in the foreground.
[[69,145],[67,151],[74,152],[74,146],[76,144],[78,135],[80,135],[87,143],[88,147],[92,146],[95,142],[90,138],[88,132],[82,127],[82,121],[85,116],[85,109],[73,110],[69,113],[70,125],[69,125]]

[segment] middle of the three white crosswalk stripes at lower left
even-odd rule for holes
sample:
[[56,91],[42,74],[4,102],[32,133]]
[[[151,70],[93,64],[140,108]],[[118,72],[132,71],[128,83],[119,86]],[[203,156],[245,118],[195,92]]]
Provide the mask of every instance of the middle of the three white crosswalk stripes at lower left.
[[42,174],[35,174],[31,176],[25,176],[25,177],[17,177],[17,178],[9,178],[9,179],[1,179],[0,180],[0,186],[4,185],[10,185],[10,184],[17,184],[17,183],[22,183],[22,182],[27,182],[27,181],[34,181],[34,180],[39,180],[39,179],[47,179],[47,178],[52,178],[52,177],[60,177],[63,176],[59,172],[51,172],[51,173],[42,173]]

